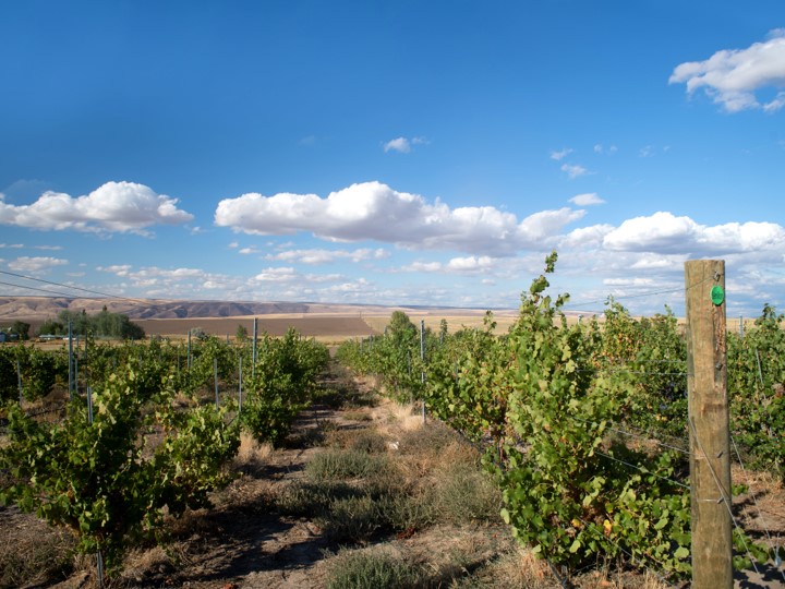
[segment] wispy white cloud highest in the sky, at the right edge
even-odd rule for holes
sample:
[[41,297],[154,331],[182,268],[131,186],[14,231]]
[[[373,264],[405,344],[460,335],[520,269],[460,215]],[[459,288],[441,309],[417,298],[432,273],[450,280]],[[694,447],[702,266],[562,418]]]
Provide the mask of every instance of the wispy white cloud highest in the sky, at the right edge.
[[[774,29],[765,41],[746,49],[723,49],[705,61],[681,63],[668,83],[687,84],[689,94],[703,88],[727,112],[778,110],[785,106],[785,92],[781,89],[785,86],[785,29]],[[756,93],[763,88],[780,92],[761,104]]]

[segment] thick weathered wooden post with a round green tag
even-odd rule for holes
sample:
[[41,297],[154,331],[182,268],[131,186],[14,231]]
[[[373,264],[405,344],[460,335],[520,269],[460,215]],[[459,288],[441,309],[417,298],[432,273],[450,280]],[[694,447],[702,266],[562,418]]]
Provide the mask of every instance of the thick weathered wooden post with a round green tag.
[[685,263],[692,587],[733,588],[725,262]]

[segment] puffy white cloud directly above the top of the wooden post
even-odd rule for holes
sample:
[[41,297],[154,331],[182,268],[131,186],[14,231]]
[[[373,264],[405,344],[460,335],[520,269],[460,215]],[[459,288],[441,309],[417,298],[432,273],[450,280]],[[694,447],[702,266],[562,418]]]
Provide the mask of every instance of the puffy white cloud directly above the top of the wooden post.
[[785,251],[785,228],[773,223],[754,221],[709,227],[689,217],[659,212],[624,221],[605,236],[603,243],[614,251],[696,255]]

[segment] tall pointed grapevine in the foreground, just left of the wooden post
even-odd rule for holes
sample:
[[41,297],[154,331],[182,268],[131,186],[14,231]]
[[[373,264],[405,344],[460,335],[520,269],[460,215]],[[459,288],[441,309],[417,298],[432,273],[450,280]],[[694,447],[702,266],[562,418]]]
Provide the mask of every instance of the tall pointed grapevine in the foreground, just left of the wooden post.
[[[555,261],[548,256],[546,274]],[[557,563],[578,566],[624,552],[686,573],[689,500],[668,480],[672,457],[655,461],[605,443],[609,422],[630,407],[635,383],[592,365],[582,330],[569,328],[560,311],[567,297],[553,301],[547,287],[545,275],[533,281],[510,333],[512,431],[492,461],[503,517],[521,541]],[[619,454],[632,471],[614,459]]]

